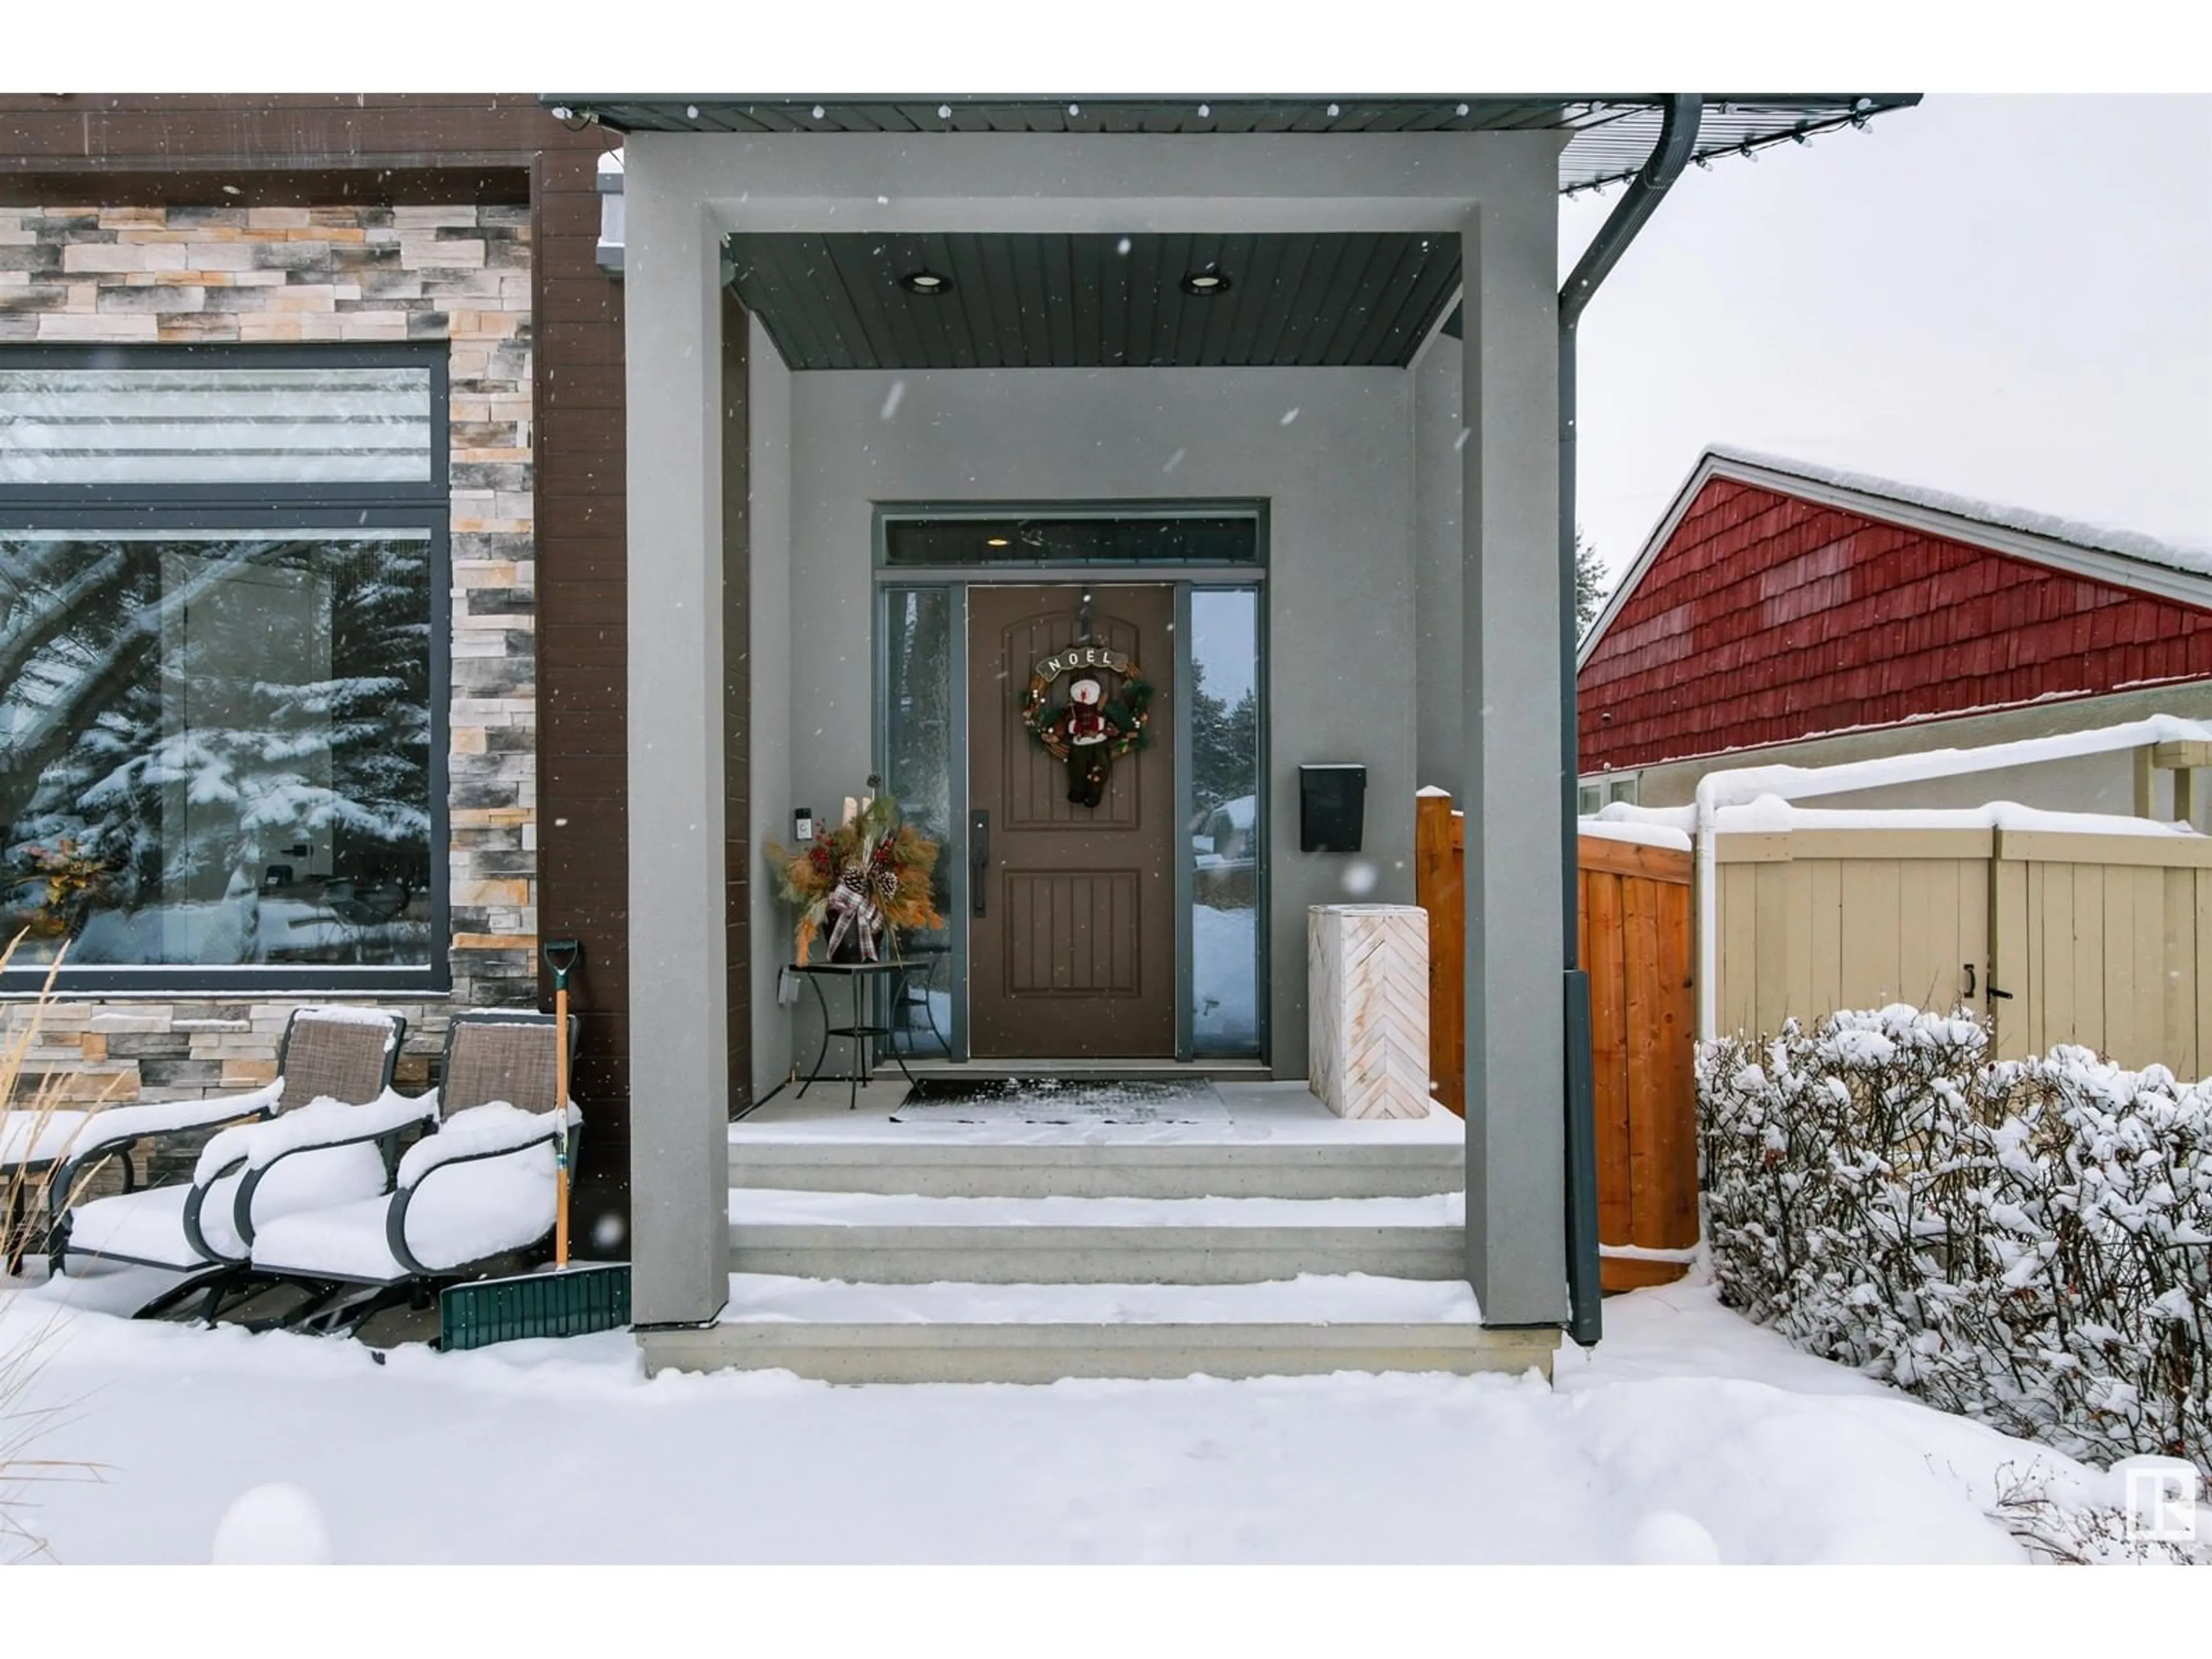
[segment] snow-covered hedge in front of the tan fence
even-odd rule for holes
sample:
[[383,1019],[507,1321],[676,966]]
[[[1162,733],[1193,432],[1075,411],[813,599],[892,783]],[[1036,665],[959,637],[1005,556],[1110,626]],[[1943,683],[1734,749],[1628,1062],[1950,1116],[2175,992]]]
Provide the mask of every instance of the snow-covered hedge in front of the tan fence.
[[1902,1004],[1699,1053],[1721,1298],[1929,1405],[2212,1471],[2212,1082]]

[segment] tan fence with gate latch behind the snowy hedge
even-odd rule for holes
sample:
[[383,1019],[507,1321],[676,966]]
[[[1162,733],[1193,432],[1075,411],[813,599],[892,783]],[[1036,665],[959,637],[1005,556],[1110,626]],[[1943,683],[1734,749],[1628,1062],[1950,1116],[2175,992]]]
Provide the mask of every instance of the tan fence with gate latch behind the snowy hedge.
[[1721,834],[1714,863],[1721,1035],[1966,1004],[2002,1057],[2212,1062],[2212,838],[1787,830]]

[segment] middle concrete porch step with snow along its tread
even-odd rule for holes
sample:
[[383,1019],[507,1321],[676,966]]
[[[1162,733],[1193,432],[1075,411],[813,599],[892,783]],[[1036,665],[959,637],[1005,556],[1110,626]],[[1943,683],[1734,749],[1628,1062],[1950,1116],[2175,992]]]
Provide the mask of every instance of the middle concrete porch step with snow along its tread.
[[876,1285],[1245,1285],[1301,1274],[1451,1281],[1464,1203],[1416,1199],[933,1199],[730,1192],[741,1274]]

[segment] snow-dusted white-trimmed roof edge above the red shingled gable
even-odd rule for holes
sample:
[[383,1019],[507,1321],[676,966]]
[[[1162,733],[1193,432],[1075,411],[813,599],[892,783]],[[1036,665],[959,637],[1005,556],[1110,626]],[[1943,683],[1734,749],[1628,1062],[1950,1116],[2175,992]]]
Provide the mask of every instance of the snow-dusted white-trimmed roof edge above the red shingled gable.
[[1772,489],[1781,495],[1836,507],[1847,513],[1902,524],[1953,542],[1986,546],[1993,553],[2048,564],[2112,586],[2132,588],[2161,599],[2179,599],[2212,608],[2212,546],[2161,540],[2139,531],[2086,524],[2024,507],[1984,502],[1896,478],[1820,467],[1790,456],[1772,456],[1734,445],[1708,445],[1697,467],[1674,493],[1672,504],[1652,526],[1619,584],[1606,597],[1604,611],[1582,637],[1577,666],[1590,659],[1606,628],[1628,604],[1674,529],[1688,515],[1699,491],[1714,478],[1734,478]]

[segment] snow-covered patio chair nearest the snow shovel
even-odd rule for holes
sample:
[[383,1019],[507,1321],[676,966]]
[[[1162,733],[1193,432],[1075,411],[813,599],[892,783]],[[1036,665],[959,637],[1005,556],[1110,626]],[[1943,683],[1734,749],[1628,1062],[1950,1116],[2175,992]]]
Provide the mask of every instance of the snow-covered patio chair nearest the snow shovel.
[[[239,1190],[239,1230],[257,1279],[299,1285],[294,1329],[349,1329],[385,1307],[429,1305],[445,1285],[553,1234],[555,1141],[582,1121],[555,1110],[555,1020],[544,1013],[458,1013],[447,1031],[436,1128],[400,1157],[387,1192],[263,1219],[259,1183],[294,1155],[341,1141],[283,1144],[274,1124],[243,1130],[265,1144]],[[575,1020],[564,1042],[575,1046]],[[573,1157],[571,1157],[573,1164]]]

